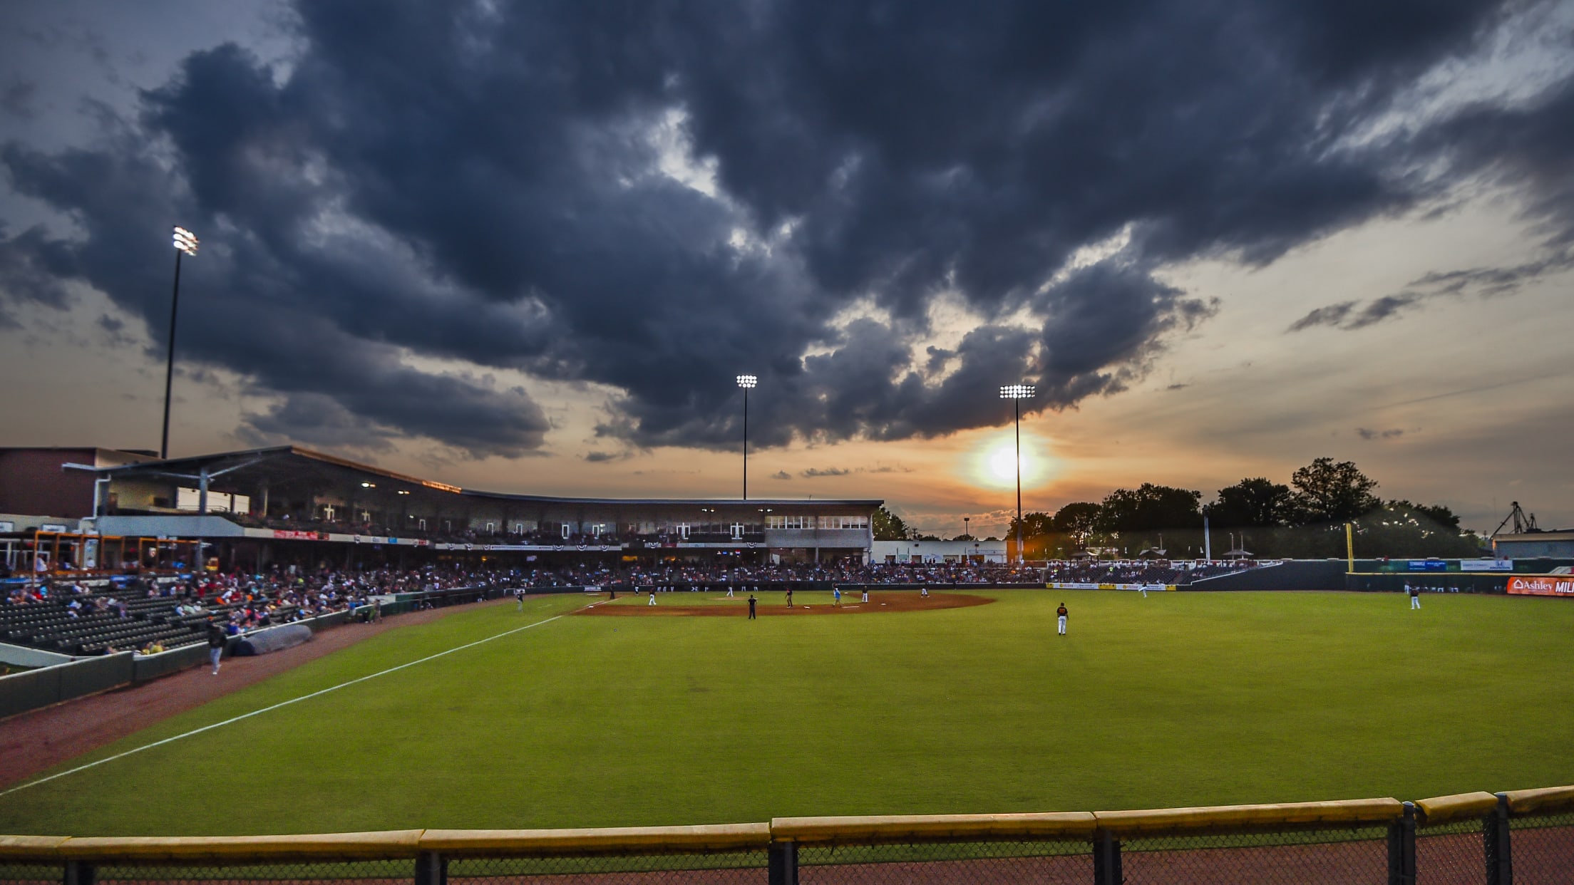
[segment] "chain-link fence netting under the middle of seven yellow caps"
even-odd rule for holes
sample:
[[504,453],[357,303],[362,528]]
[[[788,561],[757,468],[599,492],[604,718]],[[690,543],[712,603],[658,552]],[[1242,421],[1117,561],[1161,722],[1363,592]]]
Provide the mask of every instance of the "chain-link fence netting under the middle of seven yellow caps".
[[803,885],[968,885],[1092,882],[1092,849],[1075,841],[932,842],[894,846],[803,846]]

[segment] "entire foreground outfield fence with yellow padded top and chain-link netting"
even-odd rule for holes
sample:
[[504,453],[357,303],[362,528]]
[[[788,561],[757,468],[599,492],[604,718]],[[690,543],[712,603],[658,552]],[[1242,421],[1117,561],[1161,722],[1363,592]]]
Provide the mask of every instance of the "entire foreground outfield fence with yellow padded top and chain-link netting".
[[609,830],[0,836],[0,885],[1574,882],[1574,786],[1294,805]]

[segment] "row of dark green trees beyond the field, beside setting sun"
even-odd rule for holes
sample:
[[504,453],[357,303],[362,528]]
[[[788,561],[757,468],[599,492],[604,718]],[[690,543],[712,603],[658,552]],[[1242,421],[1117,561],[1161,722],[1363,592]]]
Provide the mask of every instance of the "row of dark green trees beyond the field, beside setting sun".
[[[1078,551],[1192,559],[1203,556],[1207,517],[1215,559],[1229,551],[1273,559],[1344,556],[1344,523],[1355,528],[1360,557],[1481,554],[1483,540],[1462,531],[1448,507],[1385,501],[1376,490],[1377,480],[1352,461],[1333,458],[1297,469],[1289,485],[1242,479],[1220,488],[1207,504],[1201,491],[1144,482],[1116,488],[1100,502],[1075,501],[1055,513],[1023,513],[1023,553],[1029,559],[1064,559]],[[875,540],[940,540],[919,535],[883,507],[874,531]],[[1015,543],[1017,520],[1006,537]]]

